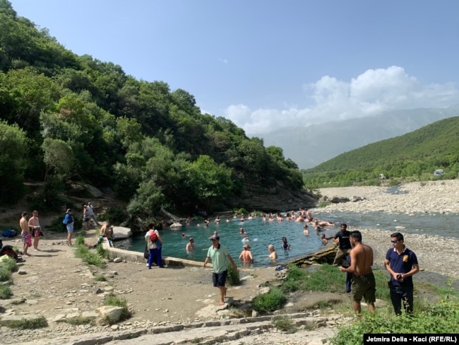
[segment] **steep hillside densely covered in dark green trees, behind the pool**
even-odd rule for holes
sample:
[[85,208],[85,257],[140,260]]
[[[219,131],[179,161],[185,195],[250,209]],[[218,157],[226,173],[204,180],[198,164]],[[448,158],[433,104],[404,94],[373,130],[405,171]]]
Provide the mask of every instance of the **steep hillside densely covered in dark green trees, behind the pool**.
[[[44,23],[42,23],[44,24]],[[218,209],[244,191],[302,189],[297,165],[193,95],[142,81],[112,62],[65,49],[0,0],[0,203],[44,181],[60,205],[70,181],[111,187],[132,214],[161,206]],[[254,187],[255,186],[255,187]],[[244,206],[244,205],[239,205]]]

